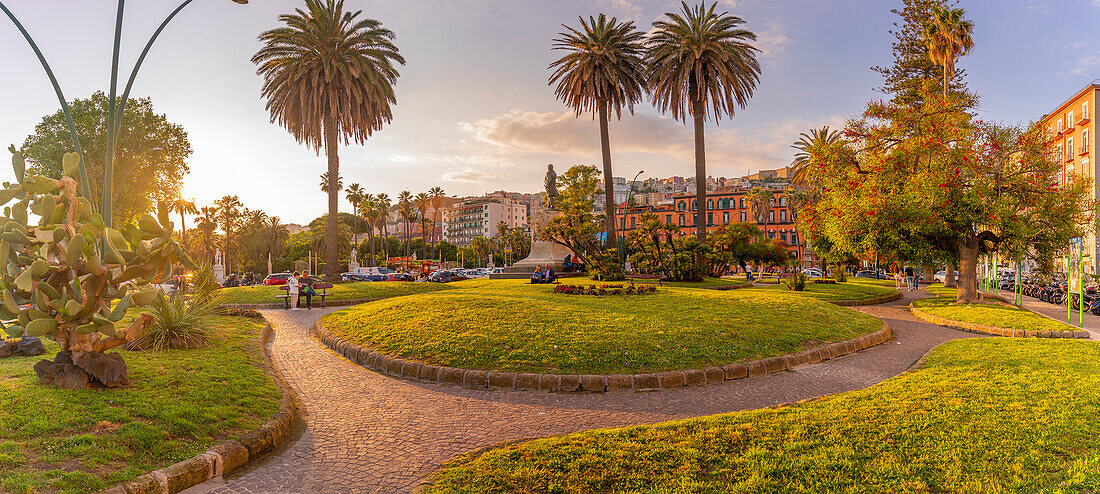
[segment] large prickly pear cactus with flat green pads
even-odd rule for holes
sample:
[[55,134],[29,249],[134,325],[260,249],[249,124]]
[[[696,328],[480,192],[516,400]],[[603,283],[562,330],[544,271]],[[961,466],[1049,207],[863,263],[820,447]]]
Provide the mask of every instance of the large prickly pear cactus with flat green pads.
[[142,336],[148,316],[117,325],[128,308],[153,301],[154,283],[175,263],[190,264],[167,211],[108,228],[78,193],[76,153],[65,155],[58,180],[28,174],[23,155],[10,151],[16,183],[0,188],[0,312],[14,321],[0,326],[13,338],[48,336],[74,360]]

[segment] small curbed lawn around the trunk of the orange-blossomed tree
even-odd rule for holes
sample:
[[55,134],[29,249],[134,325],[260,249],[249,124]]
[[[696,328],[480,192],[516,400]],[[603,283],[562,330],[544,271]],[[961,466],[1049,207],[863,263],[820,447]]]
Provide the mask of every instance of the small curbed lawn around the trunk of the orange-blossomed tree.
[[1072,331],[1078,329],[1011,305],[998,303],[955,305],[956,288],[935,286],[928,287],[926,290],[938,295],[938,297],[922,298],[914,301],[913,306],[944,319],[1025,331]]

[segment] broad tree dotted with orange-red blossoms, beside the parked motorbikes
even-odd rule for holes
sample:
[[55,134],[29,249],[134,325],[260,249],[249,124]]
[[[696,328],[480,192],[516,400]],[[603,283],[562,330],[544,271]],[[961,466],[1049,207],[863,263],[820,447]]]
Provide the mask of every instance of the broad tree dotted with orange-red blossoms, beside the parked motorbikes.
[[[977,298],[980,253],[1044,259],[1096,228],[1087,177],[1062,178],[1040,129],[975,121],[927,97],[872,102],[837,145],[851,160],[814,160],[817,200],[801,217],[835,252],[959,260],[958,301]],[[824,155],[823,155],[824,156]]]

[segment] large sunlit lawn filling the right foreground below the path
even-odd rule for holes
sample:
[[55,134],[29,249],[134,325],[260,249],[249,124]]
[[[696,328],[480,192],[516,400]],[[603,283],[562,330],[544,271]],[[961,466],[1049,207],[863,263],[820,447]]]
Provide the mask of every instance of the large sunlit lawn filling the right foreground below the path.
[[956,340],[862,391],[460,457],[427,492],[1096,493],[1100,345]]

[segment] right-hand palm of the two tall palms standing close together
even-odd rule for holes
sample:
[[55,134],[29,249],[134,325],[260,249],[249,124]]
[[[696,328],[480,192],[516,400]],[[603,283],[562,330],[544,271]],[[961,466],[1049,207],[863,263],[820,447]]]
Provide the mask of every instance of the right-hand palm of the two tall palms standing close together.
[[[756,34],[744,30],[741,18],[715,13],[681,2],[683,11],[668,12],[669,20],[653,23],[648,41],[646,80],[653,105],[672,118],[695,123],[695,235],[706,241],[706,151],[703,121],[734,117],[735,107],[748,105],[760,80],[760,51],[749,44]],[[710,106],[710,108],[708,108]]]

